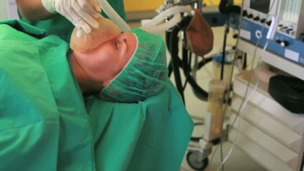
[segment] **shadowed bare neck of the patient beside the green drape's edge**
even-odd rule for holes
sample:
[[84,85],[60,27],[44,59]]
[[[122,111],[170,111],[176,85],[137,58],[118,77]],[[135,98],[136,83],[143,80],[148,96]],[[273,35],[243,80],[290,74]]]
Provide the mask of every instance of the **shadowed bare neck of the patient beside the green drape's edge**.
[[77,63],[77,60],[73,56],[73,53],[71,53],[69,57],[73,74],[78,82],[81,92],[85,94],[92,93],[94,91],[94,88],[92,86],[91,81],[89,80],[88,75],[85,74],[79,63]]

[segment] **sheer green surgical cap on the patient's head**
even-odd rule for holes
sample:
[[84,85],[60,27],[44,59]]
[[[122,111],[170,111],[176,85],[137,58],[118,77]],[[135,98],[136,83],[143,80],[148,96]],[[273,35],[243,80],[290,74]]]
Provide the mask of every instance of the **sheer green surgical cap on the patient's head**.
[[137,38],[133,56],[118,75],[99,93],[100,98],[115,102],[138,102],[163,88],[168,70],[166,50],[160,35],[132,29]]

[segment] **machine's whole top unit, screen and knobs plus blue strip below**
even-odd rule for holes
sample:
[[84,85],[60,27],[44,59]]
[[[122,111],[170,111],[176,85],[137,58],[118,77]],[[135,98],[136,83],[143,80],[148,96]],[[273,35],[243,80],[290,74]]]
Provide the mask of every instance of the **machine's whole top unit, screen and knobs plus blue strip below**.
[[244,0],[242,15],[240,37],[255,45],[263,35],[258,41],[261,48],[266,43],[272,16],[279,17],[267,50],[304,66],[304,0]]

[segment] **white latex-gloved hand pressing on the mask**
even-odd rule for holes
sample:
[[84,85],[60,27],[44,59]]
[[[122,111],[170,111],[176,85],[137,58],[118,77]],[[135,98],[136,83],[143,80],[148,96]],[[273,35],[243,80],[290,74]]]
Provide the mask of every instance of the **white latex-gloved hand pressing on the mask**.
[[41,2],[48,12],[60,13],[86,33],[91,31],[90,26],[99,27],[95,20],[101,12],[98,0],[41,0]]

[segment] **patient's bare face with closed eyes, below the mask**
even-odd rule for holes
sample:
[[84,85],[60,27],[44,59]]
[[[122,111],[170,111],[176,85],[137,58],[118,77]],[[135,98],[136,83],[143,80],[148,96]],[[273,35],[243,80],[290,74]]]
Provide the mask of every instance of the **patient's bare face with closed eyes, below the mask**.
[[73,52],[81,69],[91,79],[105,86],[125,66],[133,55],[137,40],[133,33],[123,32],[85,52]]

